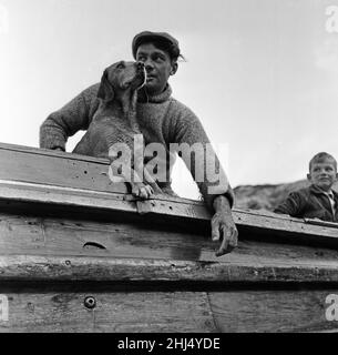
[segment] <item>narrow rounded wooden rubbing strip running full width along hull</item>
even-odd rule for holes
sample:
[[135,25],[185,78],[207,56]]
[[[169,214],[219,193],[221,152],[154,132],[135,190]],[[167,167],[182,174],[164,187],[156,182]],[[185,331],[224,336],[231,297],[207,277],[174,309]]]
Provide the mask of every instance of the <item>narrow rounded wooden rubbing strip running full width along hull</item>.
[[192,282],[192,283],[337,283],[337,262],[276,264],[207,263],[154,258],[88,256],[0,256],[0,281],[30,282]]

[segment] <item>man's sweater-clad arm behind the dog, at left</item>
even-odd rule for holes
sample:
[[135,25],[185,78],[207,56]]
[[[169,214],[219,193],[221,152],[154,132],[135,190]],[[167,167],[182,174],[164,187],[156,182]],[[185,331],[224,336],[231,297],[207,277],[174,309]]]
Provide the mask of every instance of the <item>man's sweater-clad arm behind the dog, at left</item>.
[[99,100],[98,85],[90,87],[61,110],[53,112],[40,126],[40,148],[65,150],[69,136],[80,130],[86,130]]

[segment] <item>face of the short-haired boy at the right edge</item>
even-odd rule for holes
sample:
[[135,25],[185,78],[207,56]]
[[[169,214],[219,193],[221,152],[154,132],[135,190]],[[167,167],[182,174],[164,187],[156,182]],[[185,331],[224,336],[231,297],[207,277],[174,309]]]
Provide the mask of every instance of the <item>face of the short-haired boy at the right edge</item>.
[[326,159],[322,162],[313,163],[307,179],[313,185],[317,185],[324,191],[331,189],[332,184],[337,181],[337,169],[330,159]]

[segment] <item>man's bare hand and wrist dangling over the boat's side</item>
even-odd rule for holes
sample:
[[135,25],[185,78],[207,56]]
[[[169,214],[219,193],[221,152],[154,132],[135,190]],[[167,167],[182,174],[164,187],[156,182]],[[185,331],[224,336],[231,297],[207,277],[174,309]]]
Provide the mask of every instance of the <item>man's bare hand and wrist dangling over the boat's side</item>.
[[238,231],[236,229],[228,200],[219,195],[215,197],[213,206],[215,214],[212,219],[212,237],[214,242],[221,240],[216,256],[231,253],[237,246]]

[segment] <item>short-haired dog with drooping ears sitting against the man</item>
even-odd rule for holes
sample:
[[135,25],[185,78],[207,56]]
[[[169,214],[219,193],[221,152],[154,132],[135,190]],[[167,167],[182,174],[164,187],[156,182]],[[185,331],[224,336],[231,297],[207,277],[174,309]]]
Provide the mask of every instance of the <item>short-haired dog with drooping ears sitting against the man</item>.
[[[127,176],[132,194],[148,199],[154,192],[160,193],[161,189],[143,169],[143,146],[139,148],[142,152],[132,155],[132,159],[123,160],[123,153],[119,156],[121,149],[116,144],[124,143],[130,152],[134,152],[134,135],[141,134],[136,119],[137,90],[145,81],[146,71],[143,63],[121,61],[105,69],[98,92],[98,98],[101,99],[99,109],[73,153],[110,156],[112,161],[119,158],[123,165],[120,173],[123,178]],[[142,172],[143,176],[136,172]]]

